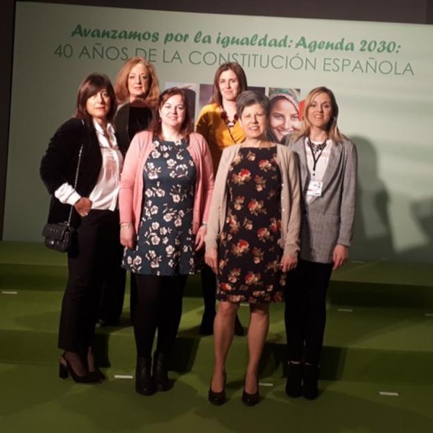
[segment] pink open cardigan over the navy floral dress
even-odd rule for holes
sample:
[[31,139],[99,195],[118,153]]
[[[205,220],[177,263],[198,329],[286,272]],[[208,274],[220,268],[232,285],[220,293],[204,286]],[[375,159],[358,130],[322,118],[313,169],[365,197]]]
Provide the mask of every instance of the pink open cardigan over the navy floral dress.
[[[121,172],[119,191],[119,211],[122,223],[134,223],[138,232],[142,215],[143,197],[143,169],[148,155],[155,148],[153,135],[149,131],[142,131],[133,138]],[[207,222],[212,191],[214,189],[214,171],[212,158],[206,140],[202,135],[189,135],[188,151],[196,166],[196,190],[194,194],[194,211],[192,231],[196,234],[202,223]]]

